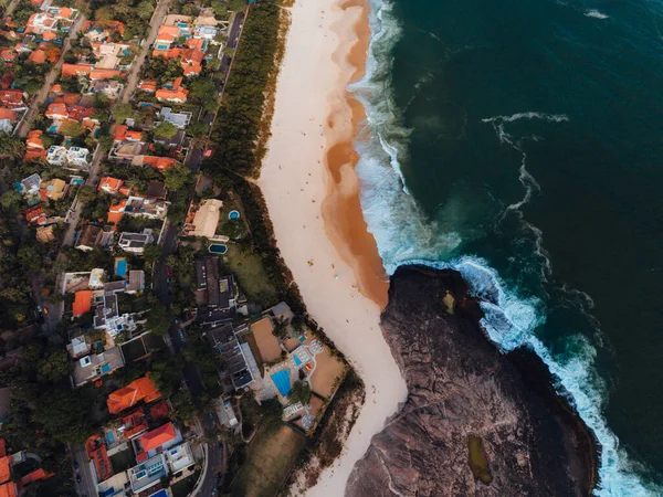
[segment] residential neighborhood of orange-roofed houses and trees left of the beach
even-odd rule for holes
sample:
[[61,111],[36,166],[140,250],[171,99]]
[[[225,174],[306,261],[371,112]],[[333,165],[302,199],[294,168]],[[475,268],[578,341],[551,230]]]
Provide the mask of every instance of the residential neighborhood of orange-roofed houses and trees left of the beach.
[[209,166],[276,4],[0,7],[0,495],[277,495],[362,387]]

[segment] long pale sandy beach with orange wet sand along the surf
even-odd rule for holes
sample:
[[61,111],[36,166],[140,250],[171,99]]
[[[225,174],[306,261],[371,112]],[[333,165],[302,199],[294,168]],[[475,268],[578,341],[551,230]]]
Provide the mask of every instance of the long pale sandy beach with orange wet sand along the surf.
[[343,456],[307,495],[343,495],[371,436],[406,399],[379,328],[387,276],[366,231],[351,147],[364,109],[346,92],[361,77],[366,7],[295,1],[281,67],[272,138],[259,184],[285,262],[308,311],[366,383],[366,404]]

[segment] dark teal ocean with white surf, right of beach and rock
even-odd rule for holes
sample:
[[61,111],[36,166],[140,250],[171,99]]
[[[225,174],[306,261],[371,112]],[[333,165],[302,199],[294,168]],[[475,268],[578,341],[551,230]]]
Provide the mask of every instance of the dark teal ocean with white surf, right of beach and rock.
[[369,0],[361,207],[389,273],[460,271],[601,444],[663,495],[663,3]]

